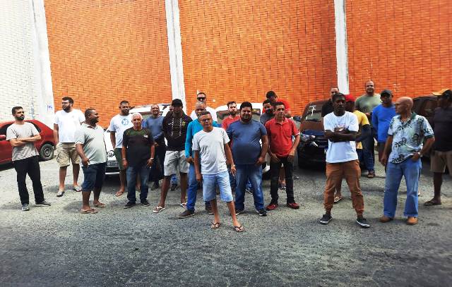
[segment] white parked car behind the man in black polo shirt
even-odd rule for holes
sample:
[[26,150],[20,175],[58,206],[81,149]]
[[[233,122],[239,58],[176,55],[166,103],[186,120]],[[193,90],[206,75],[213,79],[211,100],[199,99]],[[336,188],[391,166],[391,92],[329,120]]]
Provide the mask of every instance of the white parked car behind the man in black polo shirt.
[[[146,118],[150,117],[150,104],[144,105],[144,106],[133,106],[132,109],[130,109],[130,114],[133,113],[140,113],[141,116],[143,116],[143,121]],[[158,104],[160,107],[160,116],[166,116],[169,111],[169,106],[171,104]],[[119,173],[118,168],[118,161],[116,160],[116,157],[114,157],[114,151],[112,146],[112,141],[110,140],[110,132],[107,129],[104,133],[104,139],[105,139],[105,147],[107,149],[107,168],[105,170],[105,173],[107,175],[114,175]]]

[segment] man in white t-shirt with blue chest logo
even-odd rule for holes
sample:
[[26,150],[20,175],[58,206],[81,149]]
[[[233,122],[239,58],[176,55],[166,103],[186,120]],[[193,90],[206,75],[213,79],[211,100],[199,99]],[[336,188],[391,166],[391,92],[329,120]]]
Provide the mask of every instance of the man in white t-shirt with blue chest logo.
[[133,126],[132,116],[129,114],[129,102],[125,100],[121,101],[119,103],[119,110],[121,112],[112,118],[110,126],[108,127],[110,132],[110,140],[112,141],[112,147],[114,150],[114,157],[116,157],[116,160],[118,161],[119,181],[121,182],[121,186],[119,187],[116,196],[121,196],[124,191],[126,191],[126,169],[124,168],[121,156],[122,135],[124,135],[124,130]]

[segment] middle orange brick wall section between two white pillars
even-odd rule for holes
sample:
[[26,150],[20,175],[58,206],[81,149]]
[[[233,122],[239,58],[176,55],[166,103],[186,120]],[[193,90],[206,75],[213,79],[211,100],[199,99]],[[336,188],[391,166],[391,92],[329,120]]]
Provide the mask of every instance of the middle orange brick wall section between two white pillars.
[[179,0],[179,9],[190,111],[196,90],[214,107],[275,90],[301,114],[337,82],[331,0]]

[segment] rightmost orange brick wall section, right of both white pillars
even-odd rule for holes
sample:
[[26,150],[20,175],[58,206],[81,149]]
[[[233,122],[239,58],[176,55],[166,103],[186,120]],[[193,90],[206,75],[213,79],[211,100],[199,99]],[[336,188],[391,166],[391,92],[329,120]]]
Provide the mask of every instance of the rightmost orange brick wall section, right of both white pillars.
[[452,85],[450,0],[348,0],[346,11],[350,92],[369,78],[396,97]]

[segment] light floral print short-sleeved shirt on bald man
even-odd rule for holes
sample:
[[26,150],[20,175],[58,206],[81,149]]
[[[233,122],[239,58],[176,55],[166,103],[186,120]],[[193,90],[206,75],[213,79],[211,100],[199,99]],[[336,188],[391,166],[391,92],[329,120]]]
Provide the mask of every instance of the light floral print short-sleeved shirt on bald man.
[[432,138],[433,129],[423,116],[411,114],[408,121],[400,121],[400,115],[394,116],[389,124],[388,135],[393,136],[393,146],[388,161],[399,164],[420,152],[424,139]]

